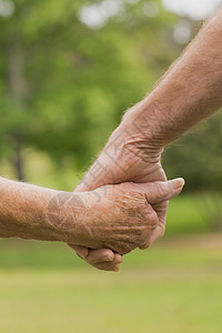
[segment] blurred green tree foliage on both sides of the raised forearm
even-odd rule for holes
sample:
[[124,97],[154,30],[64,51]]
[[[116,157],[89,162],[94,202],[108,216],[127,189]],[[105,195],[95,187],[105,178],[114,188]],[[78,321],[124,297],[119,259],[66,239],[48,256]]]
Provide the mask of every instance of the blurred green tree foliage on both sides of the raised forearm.
[[[180,18],[161,1],[153,18],[144,14],[148,1],[125,1],[124,12],[91,29],[79,12],[98,2],[14,0],[14,13],[0,17],[0,158],[18,179],[30,148],[60,170],[70,159],[73,173],[83,171],[182,50],[172,33]],[[165,154],[169,175],[184,175],[190,190],[222,182],[220,119]]]

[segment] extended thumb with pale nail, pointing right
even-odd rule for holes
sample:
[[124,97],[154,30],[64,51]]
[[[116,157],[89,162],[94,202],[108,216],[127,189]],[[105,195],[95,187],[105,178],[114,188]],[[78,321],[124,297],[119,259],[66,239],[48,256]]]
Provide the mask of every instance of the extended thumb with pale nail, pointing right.
[[179,195],[185,184],[184,179],[178,178],[165,182],[148,183],[145,196],[149,203],[160,203]]

